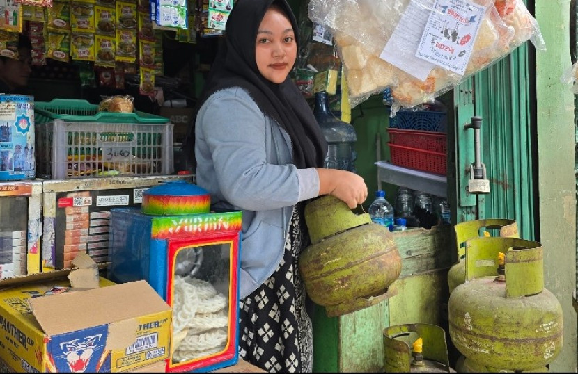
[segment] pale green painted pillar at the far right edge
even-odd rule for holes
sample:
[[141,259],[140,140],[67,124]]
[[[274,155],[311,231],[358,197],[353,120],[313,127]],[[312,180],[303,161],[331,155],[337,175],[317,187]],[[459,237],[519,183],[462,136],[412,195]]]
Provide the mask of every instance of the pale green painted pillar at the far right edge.
[[570,67],[570,0],[536,0],[535,15],[547,51],[536,52],[536,120],[540,238],[545,287],[561,302],[564,348],[551,371],[575,372],[577,316],[574,97],[560,77]]

